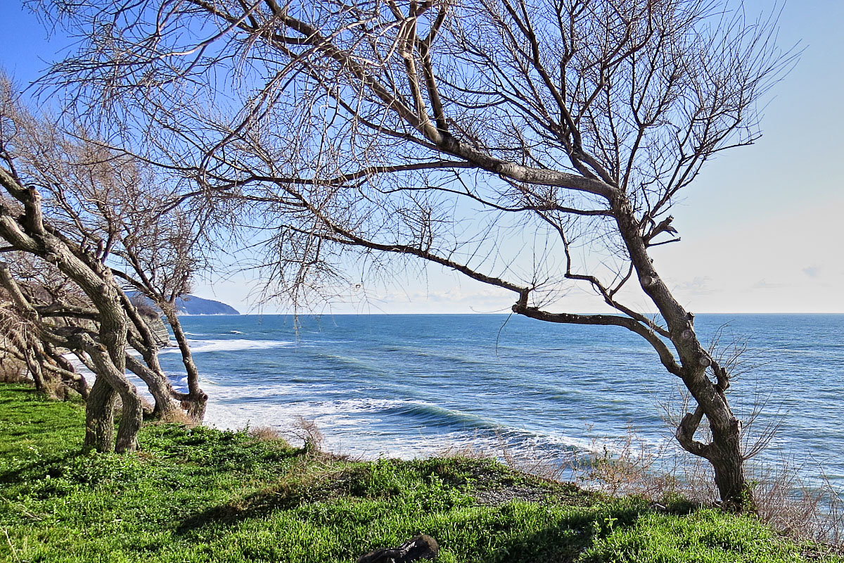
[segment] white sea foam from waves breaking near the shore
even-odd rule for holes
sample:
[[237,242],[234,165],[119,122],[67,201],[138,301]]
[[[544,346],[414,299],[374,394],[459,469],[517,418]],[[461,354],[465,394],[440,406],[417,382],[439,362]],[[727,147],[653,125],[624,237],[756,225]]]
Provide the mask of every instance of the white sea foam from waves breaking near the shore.
[[[201,340],[192,343],[192,351],[235,351],[248,349],[272,349],[293,344],[275,340]],[[178,352],[178,349],[160,350],[160,353]],[[84,365],[73,358],[74,364],[82,371],[89,382],[94,376]],[[333,452],[343,452],[360,457],[426,457],[449,449],[473,447],[495,454],[506,447],[510,455],[536,457],[537,452],[550,450],[560,452],[575,449],[578,452],[600,454],[606,447],[614,452],[612,441],[597,437],[566,436],[556,432],[536,433],[519,428],[494,430],[446,430],[431,432],[430,424],[419,422],[419,430],[406,428],[396,436],[394,431],[373,430],[372,426],[384,421],[387,411],[406,411],[418,408],[429,410],[430,416],[463,417],[464,414],[452,409],[445,409],[436,403],[398,398],[343,398],[335,400],[302,400],[302,385],[296,383],[251,383],[249,385],[231,385],[230,382],[219,384],[203,374],[201,384],[208,392],[208,410],[205,424],[221,429],[237,430],[246,425],[271,426],[282,432],[289,432],[296,425],[297,417],[313,420],[326,436],[326,447]],[[151,400],[146,385],[133,374],[130,380],[138,387],[138,392]],[[177,388],[187,388],[187,376],[184,372],[167,372],[167,376]],[[360,392],[360,390],[358,390]],[[308,393],[306,396],[311,396]],[[256,400],[260,398],[260,400]],[[479,421],[495,426],[493,420]],[[393,429],[395,430],[395,429]],[[410,430],[410,431],[406,431]],[[551,457],[553,453],[549,453]]]

